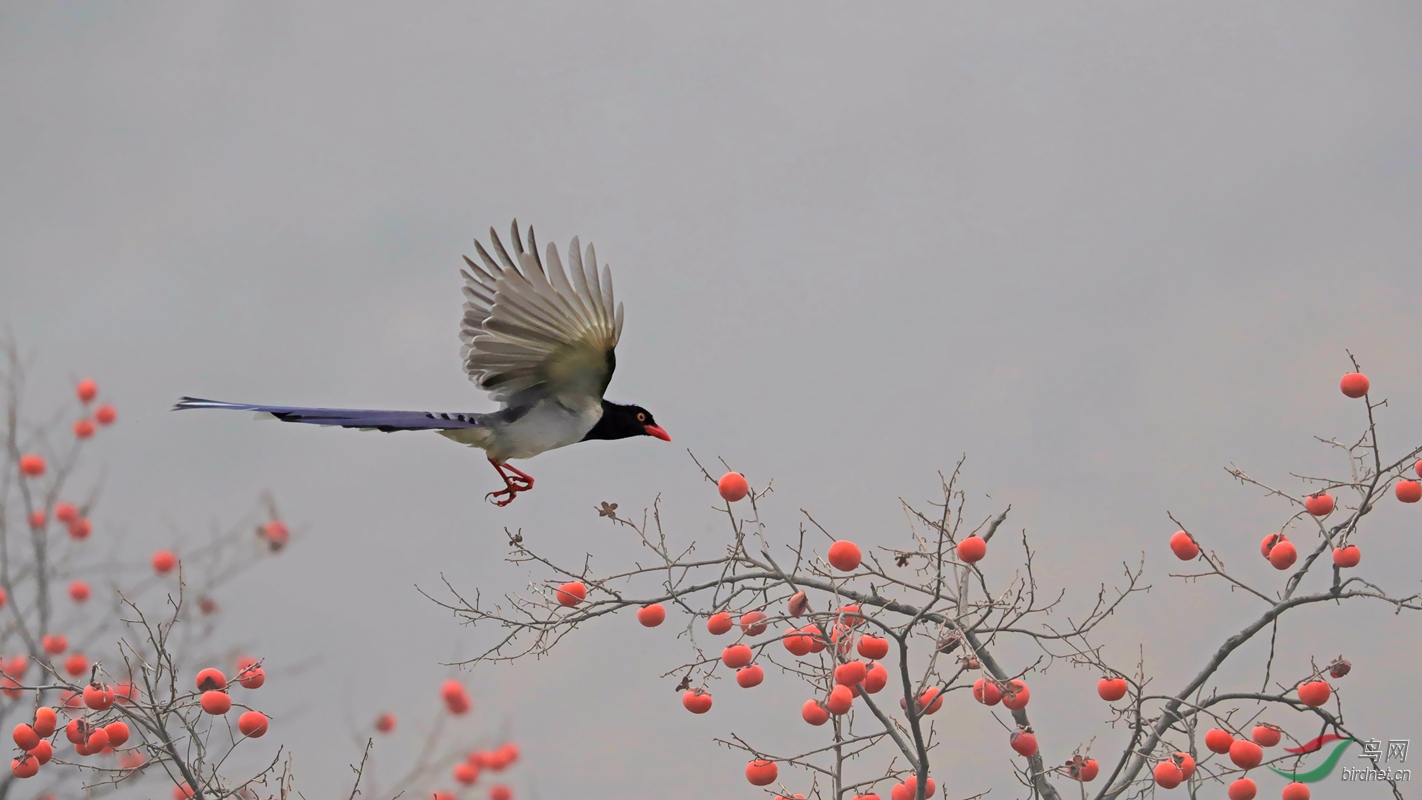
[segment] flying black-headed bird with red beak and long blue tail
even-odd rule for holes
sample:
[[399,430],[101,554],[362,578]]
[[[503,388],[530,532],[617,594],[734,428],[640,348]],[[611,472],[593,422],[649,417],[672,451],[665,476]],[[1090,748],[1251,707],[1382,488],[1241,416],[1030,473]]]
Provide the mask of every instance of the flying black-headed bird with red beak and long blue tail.
[[[508,506],[533,489],[533,477],[509,465],[539,453],[593,439],[671,436],[651,412],[637,405],[603,399],[617,367],[614,350],[621,337],[623,307],[613,300],[613,277],[597,256],[586,253],[577,237],[569,244],[570,271],[563,270],[557,247],[538,256],[533,229],[528,247],[513,220],[513,253],[489,229],[493,256],[478,240],[475,263],[464,276],[461,358],[469,379],[499,402],[486,413],[437,413],[431,411],[371,411],[353,408],[299,408],[182,398],[173,411],[225,408],[255,411],[257,418],[306,422],[361,431],[435,431],[441,436],[482,449],[503,479],[503,489],[485,497]],[[495,257],[498,256],[498,257]],[[572,276],[572,279],[569,277]]]

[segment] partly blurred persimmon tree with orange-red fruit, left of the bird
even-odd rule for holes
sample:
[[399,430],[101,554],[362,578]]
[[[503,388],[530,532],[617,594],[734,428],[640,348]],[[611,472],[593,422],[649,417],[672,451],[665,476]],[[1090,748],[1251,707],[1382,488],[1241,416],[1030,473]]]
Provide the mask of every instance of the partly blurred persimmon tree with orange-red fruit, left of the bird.
[[[164,784],[175,800],[294,796],[286,747],[236,766],[252,763],[233,756],[277,726],[279,715],[262,708],[264,659],[223,641],[216,600],[220,587],[250,581],[263,560],[289,547],[276,502],[263,496],[208,536],[175,531],[172,546],[135,558],[101,519],[98,487],[81,486],[85,452],[117,423],[117,408],[82,379],[74,399],[46,404],[31,419],[27,364],[9,342],[0,342],[0,729],[16,746],[0,773],[0,800]],[[412,786],[488,786],[491,800],[512,800],[496,773],[518,762],[518,745],[471,730],[472,701],[458,681],[439,696],[424,743],[390,790],[373,784],[368,769],[373,739],[400,736],[394,715],[360,732],[356,789],[395,797]],[[481,772],[495,774],[481,782]]]

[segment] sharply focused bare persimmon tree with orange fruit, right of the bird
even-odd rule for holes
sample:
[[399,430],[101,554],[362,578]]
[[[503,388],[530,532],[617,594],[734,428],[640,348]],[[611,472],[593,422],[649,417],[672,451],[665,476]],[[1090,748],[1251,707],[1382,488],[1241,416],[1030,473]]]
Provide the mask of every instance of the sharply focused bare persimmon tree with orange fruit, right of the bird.
[[[1176,787],[1193,797],[1213,786],[1212,796],[1247,800],[1257,791],[1250,770],[1295,763],[1295,755],[1268,750],[1285,737],[1362,739],[1345,725],[1332,691],[1348,662],[1320,654],[1308,664],[1276,664],[1278,620],[1332,602],[1371,601],[1379,612],[1422,608],[1416,594],[1392,594],[1357,570],[1368,513],[1378,503],[1422,499],[1422,483],[1409,479],[1422,469],[1422,448],[1385,456],[1375,419],[1382,404],[1368,395],[1367,378],[1349,372],[1341,389],[1361,401],[1365,416],[1357,440],[1327,440],[1344,462],[1341,477],[1300,475],[1277,486],[1230,467],[1280,509],[1278,530],[1260,546],[1277,570],[1274,581],[1241,578],[1213,550],[1233,561],[1257,557],[1253,544],[1241,550],[1237,536],[1206,536],[1176,523],[1179,530],[1162,536],[1156,551],[1122,564],[1118,585],[1085,597],[1048,591],[1028,536],[1004,541],[1011,507],[968,507],[963,462],[943,477],[941,499],[906,504],[910,530],[892,547],[866,553],[808,512],[798,531],[776,536],[759,521],[769,485],[754,490],[744,476],[715,477],[697,462],[725,500],[724,540],[674,536],[663,524],[660,499],[640,519],[603,503],[597,513],[650,553],[650,563],[594,570],[592,554],[567,563],[506,530],[508,560],[536,578],[526,591],[491,604],[447,580],[448,594],[431,598],[476,628],[492,628],[469,665],[542,656],[607,617],[656,627],[680,611],[685,658],[667,665],[665,676],[680,678],[688,712],[705,713],[717,693],[755,686],[774,671],[793,681],[778,681],[772,702],[823,729],[822,745],[803,752],[781,752],[734,730],[717,739],[744,752],[752,786],[786,799],[973,796],[978,790],[971,786],[944,786],[958,770],[937,746],[936,726],[981,705],[988,706],[981,713],[1001,723],[1004,757],[1015,759],[1031,797],[1119,799]],[[1185,561],[1175,580],[1214,581],[1254,601],[1253,618],[1203,654],[1182,686],[1159,686],[1138,654],[1121,659],[1095,644],[1113,611],[1145,600],[1136,595],[1149,588],[1142,583],[1148,557]],[[1261,675],[1244,658],[1231,659],[1246,644],[1266,639],[1270,658]],[[1081,730],[1034,729],[1034,676],[1058,662],[1099,676],[1099,699],[1091,702],[1106,703],[1101,713],[1119,732],[1109,752],[1102,737]],[[951,713],[943,715],[944,708]],[[1266,710],[1295,712],[1290,719],[1298,722],[1284,730],[1261,720]],[[1307,791],[1291,784],[1285,797]],[[1401,800],[1395,783],[1392,791]]]

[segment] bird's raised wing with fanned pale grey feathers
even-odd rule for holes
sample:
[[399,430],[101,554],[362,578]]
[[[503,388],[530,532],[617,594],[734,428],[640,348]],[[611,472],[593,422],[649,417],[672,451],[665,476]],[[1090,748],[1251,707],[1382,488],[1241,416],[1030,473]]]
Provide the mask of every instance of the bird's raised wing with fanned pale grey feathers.
[[536,396],[587,395],[600,399],[613,378],[613,350],[621,337],[623,308],[613,300],[613,276],[597,274],[593,246],[569,246],[572,280],[557,247],[538,257],[529,227],[528,249],[513,220],[513,254],[489,229],[498,259],[475,242],[479,261],[465,256],[464,371],[476,387],[506,405]]

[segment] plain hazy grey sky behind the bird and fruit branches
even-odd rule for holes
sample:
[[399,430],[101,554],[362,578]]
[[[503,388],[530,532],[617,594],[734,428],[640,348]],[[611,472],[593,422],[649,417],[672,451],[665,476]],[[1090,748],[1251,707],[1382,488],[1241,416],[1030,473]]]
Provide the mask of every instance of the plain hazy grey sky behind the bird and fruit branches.
[[[592,506],[660,492],[678,537],[720,544],[685,448],[774,477],[781,533],[803,507],[862,544],[900,541],[897,499],[967,453],[975,512],[1012,503],[1068,602],[1148,551],[1158,588],[1105,641],[1133,662],[1145,638],[1170,689],[1250,605],[1166,578],[1166,510],[1273,580],[1251,553],[1288,510],[1221,467],[1342,475],[1311,436],[1361,431],[1345,348],[1392,401],[1385,446],[1422,439],[1412,3],[10,4],[0,108],[0,318],[43,357],[37,392],[94,375],[119,405],[95,537],[171,544],[169,521],[198,534],[264,487],[299,524],[219,600],[272,661],[262,747],[296,750],[307,796],[348,783],[346,715],[428,716],[438,662],[486,641],[415,584],[543,577],[502,563],[503,526],[611,568],[636,550]],[[675,445],[545,455],[498,510],[479,453],[432,435],[166,412],[491,408],[459,369],[456,270],[512,216],[611,263],[610,396]],[[1359,540],[1399,593],[1418,513],[1385,504]],[[1422,736],[1395,689],[1416,621],[1313,621],[1281,632],[1294,671],[1348,654],[1349,722]],[[693,718],[656,678],[684,658],[663,631],[606,620],[475,672],[468,729],[509,719],[515,786],[543,797],[749,797],[711,737],[808,745],[805,691],[722,685]],[[311,655],[320,674],[282,678]],[[1095,681],[1032,683],[1049,763],[1119,747]],[[974,710],[950,796],[1015,796]]]

